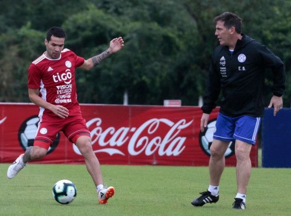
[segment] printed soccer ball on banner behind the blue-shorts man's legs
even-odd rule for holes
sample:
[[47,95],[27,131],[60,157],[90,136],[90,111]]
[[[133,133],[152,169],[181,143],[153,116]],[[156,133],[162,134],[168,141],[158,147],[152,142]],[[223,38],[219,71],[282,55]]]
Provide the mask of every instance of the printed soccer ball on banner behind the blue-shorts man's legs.
[[[199,142],[200,147],[208,156],[210,156],[210,146],[213,142],[213,133],[216,130],[215,128],[216,119],[209,122],[206,130],[204,132],[200,132]],[[234,142],[230,142],[225,153],[225,158],[228,158],[234,154]]]

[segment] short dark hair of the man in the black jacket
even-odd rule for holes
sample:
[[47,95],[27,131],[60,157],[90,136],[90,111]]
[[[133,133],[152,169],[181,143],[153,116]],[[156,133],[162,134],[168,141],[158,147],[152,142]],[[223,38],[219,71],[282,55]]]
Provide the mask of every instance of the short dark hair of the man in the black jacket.
[[224,26],[227,29],[230,29],[233,26],[237,33],[242,33],[242,18],[240,18],[236,14],[233,14],[231,12],[225,12],[223,14],[220,14],[219,16],[216,16],[213,19],[213,22],[215,24],[217,23],[217,21],[223,21]]

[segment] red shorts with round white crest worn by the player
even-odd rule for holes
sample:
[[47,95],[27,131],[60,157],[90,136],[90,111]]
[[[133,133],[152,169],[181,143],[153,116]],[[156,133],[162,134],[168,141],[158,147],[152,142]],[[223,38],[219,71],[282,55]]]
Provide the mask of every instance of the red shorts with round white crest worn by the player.
[[72,142],[71,139],[78,133],[90,134],[86,121],[81,115],[68,116],[65,119],[57,115],[43,115],[40,117],[34,140],[48,141],[49,148],[49,144],[56,139],[59,131],[63,131],[70,142]]

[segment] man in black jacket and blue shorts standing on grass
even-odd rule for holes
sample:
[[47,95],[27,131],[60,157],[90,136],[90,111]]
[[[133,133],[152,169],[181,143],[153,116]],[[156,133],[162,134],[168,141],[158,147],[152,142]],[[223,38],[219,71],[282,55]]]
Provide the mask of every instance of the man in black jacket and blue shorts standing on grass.
[[216,106],[222,91],[216,131],[210,146],[210,186],[191,203],[202,206],[217,202],[219,182],[225,166],[225,152],[230,141],[235,141],[237,159],[237,195],[232,207],[245,209],[246,189],[251,174],[249,157],[251,146],[256,143],[260,117],[264,112],[263,84],[265,68],[273,72],[273,94],[269,107],[274,115],[283,105],[285,88],[284,64],[265,45],[241,34],[242,19],[225,12],[214,18],[215,35],[220,45],[213,52],[206,93],[203,98],[203,115],[200,128],[204,131],[209,114]]

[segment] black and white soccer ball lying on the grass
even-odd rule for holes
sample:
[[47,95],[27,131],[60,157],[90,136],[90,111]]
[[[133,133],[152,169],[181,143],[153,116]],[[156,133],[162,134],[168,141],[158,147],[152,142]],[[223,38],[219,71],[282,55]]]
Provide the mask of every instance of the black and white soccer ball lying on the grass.
[[57,202],[68,204],[75,200],[77,188],[74,183],[69,180],[60,180],[52,187],[52,196]]

